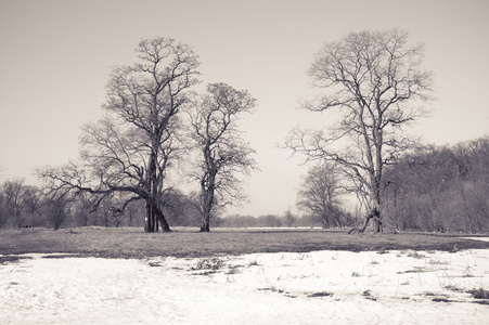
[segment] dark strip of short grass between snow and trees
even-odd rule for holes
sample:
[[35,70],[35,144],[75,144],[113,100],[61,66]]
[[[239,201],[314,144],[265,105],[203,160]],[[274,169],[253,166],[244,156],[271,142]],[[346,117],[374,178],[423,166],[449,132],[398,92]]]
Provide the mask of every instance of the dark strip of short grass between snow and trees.
[[332,230],[175,229],[171,233],[144,233],[142,229],[77,227],[0,230],[0,253],[60,252],[103,258],[155,256],[206,257],[253,252],[313,250],[458,250],[489,248],[488,242],[459,235],[402,233],[351,234]]

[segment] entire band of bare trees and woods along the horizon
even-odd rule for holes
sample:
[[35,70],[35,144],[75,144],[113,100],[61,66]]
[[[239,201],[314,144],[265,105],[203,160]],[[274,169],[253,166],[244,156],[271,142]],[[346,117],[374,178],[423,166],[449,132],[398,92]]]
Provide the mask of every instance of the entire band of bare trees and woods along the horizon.
[[[85,218],[88,225],[89,218],[76,211],[90,207],[92,216],[115,225],[129,213],[128,224],[143,222],[146,232],[170,231],[170,224],[200,224],[208,232],[211,223],[226,223],[220,217],[228,205],[245,198],[241,176],[257,166],[235,121],[256,100],[220,82],[195,92],[200,62],[186,44],[142,40],[136,53],[136,64],[113,68],[105,115],[83,127],[79,160],[39,168],[42,191],[15,181],[2,185],[0,226],[10,217],[23,226],[23,216],[38,206],[49,211],[54,229],[66,216],[79,214],[77,222]],[[316,164],[298,192],[301,216],[324,227],[355,224],[359,232],[370,221],[376,232],[384,224],[487,230],[488,140],[443,148],[422,146],[406,132],[433,100],[423,54],[424,46],[410,44],[408,32],[397,28],[350,32],[317,53],[308,73],[321,93],[303,106],[335,110],[340,119],[319,130],[296,128],[285,141],[292,153]],[[189,195],[181,192],[185,178],[197,187]],[[361,227],[344,208],[346,194],[360,203]],[[144,219],[133,223],[132,211]],[[288,211],[257,220],[278,226],[294,219]]]

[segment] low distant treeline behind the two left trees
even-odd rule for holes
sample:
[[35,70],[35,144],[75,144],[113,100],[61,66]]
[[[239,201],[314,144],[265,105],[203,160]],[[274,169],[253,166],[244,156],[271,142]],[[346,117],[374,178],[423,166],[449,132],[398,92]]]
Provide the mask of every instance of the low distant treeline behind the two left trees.
[[[72,193],[63,197],[46,195],[23,179],[9,180],[0,184],[0,229],[1,227],[75,227],[75,226],[144,226],[143,202],[132,202],[123,211],[124,196],[114,193],[98,203],[99,197],[90,193]],[[162,208],[172,225],[198,226],[202,216],[193,197],[180,191],[172,191]],[[95,208],[96,206],[96,208]],[[211,220],[213,226],[220,225],[221,219]]]

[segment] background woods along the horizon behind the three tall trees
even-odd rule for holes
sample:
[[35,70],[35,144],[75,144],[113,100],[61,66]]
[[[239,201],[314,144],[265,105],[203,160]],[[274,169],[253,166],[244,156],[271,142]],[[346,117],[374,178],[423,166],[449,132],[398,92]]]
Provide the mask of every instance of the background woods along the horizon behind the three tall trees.
[[[306,179],[306,178],[305,178]],[[305,205],[306,183],[299,188],[296,210],[282,216],[223,216],[213,226],[347,227],[364,216],[338,191],[327,213],[313,213]],[[114,195],[93,210],[88,195],[52,200],[22,179],[1,184],[0,226],[143,226],[144,204],[133,203],[124,213]],[[339,184],[338,184],[339,188]],[[175,191],[164,208],[172,226],[200,226],[192,198]],[[351,194],[350,194],[351,196]],[[303,198],[303,199],[301,199]],[[407,153],[386,168],[383,187],[384,223],[399,230],[480,233],[489,231],[489,138],[453,146],[426,145]],[[291,206],[294,203],[291,203]]]

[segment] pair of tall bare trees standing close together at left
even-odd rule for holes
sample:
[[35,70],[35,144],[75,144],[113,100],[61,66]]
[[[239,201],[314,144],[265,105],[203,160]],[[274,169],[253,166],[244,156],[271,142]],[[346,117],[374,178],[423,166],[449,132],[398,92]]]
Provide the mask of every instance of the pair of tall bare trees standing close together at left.
[[[172,206],[179,183],[171,176],[192,157],[190,165],[198,167],[191,173],[200,182],[194,206],[201,212],[201,231],[208,232],[218,207],[241,198],[234,194],[241,193],[235,174],[254,168],[254,152],[240,140],[234,120],[253,108],[255,100],[224,83],[195,93],[200,62],[186,44],[167,38],[142,40],[136,53],[138,63],[113,68],[105,116],[83,128],[81,158],[40,168],[38,174],[55,199],[86,193],[95,197],[96,208],[117,196],[121,212],[142,202],[144,230],[170,231],[165,210]],[[192,156],[191,147],[202,154]]]

